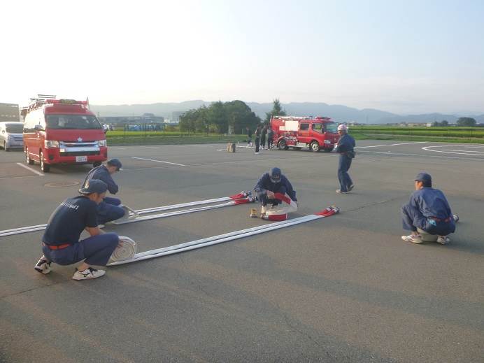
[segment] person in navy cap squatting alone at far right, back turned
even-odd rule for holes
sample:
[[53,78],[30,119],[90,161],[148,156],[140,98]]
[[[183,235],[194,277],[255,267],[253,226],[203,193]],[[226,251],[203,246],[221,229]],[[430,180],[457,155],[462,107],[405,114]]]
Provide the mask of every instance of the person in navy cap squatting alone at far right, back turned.
[[415,192],[408,204],[401,207],[404,229],[411,231],[401,239],[413,243],[422,243],[420,229],[426,234],[436,235],[436,242],[446,245],[450,242],[448,234],[455,232],[455,222],[459,220],[453,215],[446,196],[440,190],[432,188],[432,176],[428,173],[418,173],[415,177]]

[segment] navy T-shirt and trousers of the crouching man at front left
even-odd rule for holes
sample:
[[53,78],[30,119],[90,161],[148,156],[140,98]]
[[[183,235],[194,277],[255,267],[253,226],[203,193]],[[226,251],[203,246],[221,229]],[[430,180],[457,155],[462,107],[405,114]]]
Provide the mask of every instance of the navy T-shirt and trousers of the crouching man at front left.
[[105,266],[118,246],[115,233],[98,234],[79,241],[86,227],[97,227],[97,204],[81,195],[63,201],[50,216],[42,238],[42,252],[60,265],[86,264]]

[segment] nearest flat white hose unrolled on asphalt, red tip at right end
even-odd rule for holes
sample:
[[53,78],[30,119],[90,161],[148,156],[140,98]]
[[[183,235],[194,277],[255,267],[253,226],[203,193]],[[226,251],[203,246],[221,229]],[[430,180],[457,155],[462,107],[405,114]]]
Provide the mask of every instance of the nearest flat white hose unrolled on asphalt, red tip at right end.
[[152,259],[156,257],[162,257],[166,255],[173,255],[178,252],[185,252],[188,250],[195,250],[197,248],[206,247],[208,245],[215,245],[218,243],[223,243],[227,241],[234,241],[236,239],[242,239],[248,236],[254,236],[255,234],[262,234],[266,232],[271,232],[275,229],[281,229],[285,227],[290,227],[293,225],[299,225],[301,223],[310,222],[311,220],[317,220],[320,218],[329,217],[339,213],[339,208],[329,207],[320,213],[315,213],[311,215],[306,215],[304,217],[295,218],[294,220],[284,220],[281,222],[274,222],[269,225],[252,227],[248,229],[241,229],[240,231],[229,232],[226,234],[220,234],[218,236],[208,237],[206,239],[198,239],[196,241],[190,241],[181,243],[179,245],[171,245],[169,247],[158,248],[156,250],[149,250],[141,253],[136,253],[133,258],[125,259],[124,261],[111,262],[108,266],[115,266],[119,264],[129,264],[131,262],[143,261],[145,259]]

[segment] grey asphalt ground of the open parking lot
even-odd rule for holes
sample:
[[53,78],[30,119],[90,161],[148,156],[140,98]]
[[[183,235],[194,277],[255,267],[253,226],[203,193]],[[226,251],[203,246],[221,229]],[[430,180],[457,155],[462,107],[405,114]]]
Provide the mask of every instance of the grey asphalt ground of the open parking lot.
[[[279,166],[297,190],[292,218],[332,204],[341,213],[80,282],[74,266],[34,271],[42,232],[0,238],[0,361],[483,362],[483,145],[357,146],[355,190],[345,195],[335,193],[334,153],[110,148],[124,166],[118,195],[131,208],[236,194]],[[90,169],[38,175],[38,164],[21,165],[21,151],[0,152],[0,229],[45,223]],[[400,239],[400,206],[420,171],[460,215],[450,245]],[[268,223],[249,218],[252,207],[106,230],[151,250]]]

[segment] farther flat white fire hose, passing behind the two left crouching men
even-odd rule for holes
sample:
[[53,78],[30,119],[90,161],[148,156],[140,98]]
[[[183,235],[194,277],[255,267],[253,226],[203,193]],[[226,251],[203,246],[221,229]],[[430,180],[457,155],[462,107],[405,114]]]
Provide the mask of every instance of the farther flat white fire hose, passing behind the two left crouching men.
[[[227,206],[233,206],[236,204],[243,204],[246,203],[245,199],[250,198],[250,192],[240,192],[239,194],[232,195],[230,197],[221,197],[221,198],[215,198],[215,199],[206,199],[202,201],[191,201],[187,203],[181,203],[181,204],[172,204],[169,206],[159,206],[159,207],[153,207],[153,208],[144,208],[140,209],[138,211],[133,211],[131,208],[127,206],[127,210],[129,211],[129,216],[134,216],[136,214],[141,215],[141,214],[148,214],[148,213],[155,213],[159,211],[169,211],[171,209],[178,209],[178,208],[183,208],[186,206],[199,206],[203,204],[213,204],[218,201],[235,201],[233,204],[227,204]],[[213,206],[213,208],[220,208],[220,206]],[[206,208],[210,209],[210,208]],[[201,209],[202,211],[206,209]],[[190,212],[185,212],[185,213],[193,213],[197,212],[197,210],[193,210]],[[178,213],[178,214],[185,214],[185,213]],[[173,215],[178,215],[178,214],[173,214]],[[169,215],[166,215],[168,217]],[[164,217],[159,217],[159,218],[164,218]],[[122,217],[121,220],[131,220],[126,217]],[[12,236],[14,234],[24,234],[24,233],[29,233],[29,232],[37,232],[37,231],[43,231],[47,227],[47,224],[45,225],[35,225],[35,226],[28,226],[28,227],[18,227],[18,228],[13,228],[13,229],[4,229],[3,231],[0,231],[0,237],[6,237],[6,236]]]

